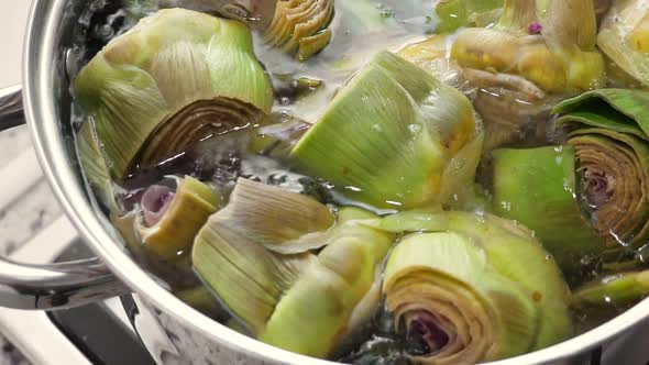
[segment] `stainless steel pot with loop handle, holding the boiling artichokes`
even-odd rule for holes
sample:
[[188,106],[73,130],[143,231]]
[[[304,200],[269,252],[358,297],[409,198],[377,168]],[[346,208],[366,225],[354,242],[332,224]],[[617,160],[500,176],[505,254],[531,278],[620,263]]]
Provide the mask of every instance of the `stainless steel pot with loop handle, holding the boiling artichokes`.
[[[99,258],[51,266],[0,259],[0,305],[57,309],[133,291],[142,299],[130,306],[133,322],[161,363],[332,364],[268,346],[186,306],[138,266],[125,252],[119,234],[96,212],[74,152],[66,77],[70,30],[85,5],[87,2],[81,0],[34,0],[24,48],[23,89],[14,87],[0,92],[0,130],[22,123],[24,107],[52,189]],[[649,299],[588,333],[494,364],[562,362],[616,336],[648,314]],[[170,343],[160,340],[161,333],[153,330],[158,325]]]

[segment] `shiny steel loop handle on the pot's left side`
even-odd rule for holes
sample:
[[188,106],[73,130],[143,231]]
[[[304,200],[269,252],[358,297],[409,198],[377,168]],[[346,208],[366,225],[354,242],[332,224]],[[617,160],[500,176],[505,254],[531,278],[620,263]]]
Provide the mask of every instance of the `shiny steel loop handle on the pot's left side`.
[[[22,88],[0,89],[0,131],[24,124]],[[26,265],[0,257],[0,306],[65,309],[130,290],[98,258]]]

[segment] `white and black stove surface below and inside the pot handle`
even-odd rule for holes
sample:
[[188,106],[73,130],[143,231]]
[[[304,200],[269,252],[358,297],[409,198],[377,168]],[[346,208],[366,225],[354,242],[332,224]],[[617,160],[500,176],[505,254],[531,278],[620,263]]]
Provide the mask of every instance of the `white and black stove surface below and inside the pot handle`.
[[[21,262],[92,257],[65,217],[14,252]],[[123,301],[132,296],[52,312],[0,309],[2,333],[33,363],[43,365],[155,365],[133,330]]]

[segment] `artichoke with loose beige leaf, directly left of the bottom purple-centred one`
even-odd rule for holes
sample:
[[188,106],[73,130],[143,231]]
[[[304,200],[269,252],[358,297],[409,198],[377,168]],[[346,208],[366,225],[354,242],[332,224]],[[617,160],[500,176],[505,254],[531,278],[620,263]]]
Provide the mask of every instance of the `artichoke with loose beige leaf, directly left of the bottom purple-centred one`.
[[[285,204],[286,212],[295,209],[282,218],[286,221],[302,220],[300,214],[312,206],[310,202],[300,207],[301,197],[274,198],[289,193],[244,180],[239,181],[231,203],[237,203],[233,200],[240,199],[242,191],[252,193],[255,188],[267,195],[268,202],[275,199],[274,203]],[[254,211],[272,209],[264,201],[248,208],[258,220],[273,220]],[[378,294],[374,288],[394,234],[355,222],[373,219],[373,214],[343,209],[332,228],[338,233],[321,236],[326,247],[319,254],[282,254],[264,243],[273,243],[277,237],[274,245],[280,246],[286,245],[279,242],[283,236],[309,235],[323,226],[318,222],[321,214],[309,215],[311,229],[264,222],[257,222],[255,228],[252,219],[246,226],[230,224],[231,219],[223,217],[230,214],[227,210],[210,218],[196,237],[194,267],[252,335],[285,350],[324,357],[332,353],[346,329],[355,328],[377,307]],[[253,226],[253,231],[248,226]]]

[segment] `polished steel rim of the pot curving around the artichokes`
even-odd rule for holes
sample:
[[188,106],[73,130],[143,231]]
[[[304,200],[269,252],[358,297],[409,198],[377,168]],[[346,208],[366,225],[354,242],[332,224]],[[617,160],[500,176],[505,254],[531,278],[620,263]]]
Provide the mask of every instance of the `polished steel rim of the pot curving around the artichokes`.
[[[237,333],[186,306],[141,269],[119,244],[121,239],[101,215],[97,214],[79,180],[76,156],[69,154],[69,128],[66,128],[67,93],[62,58],[65,46],[65,26],[74,19],[75,7],[82,1],[36,0],[31,13],[24,53],[23,85],[29,124],[37,155],[53,190],[70,220],[91,248],[121,280],[141,298],[160,310],[178,328],[208,341],[220,353],[240,358],[240,364],[299,364],[324,365],[331,362],[314,360],[275,349]],[[53,62],[54,60],[54,62]],[[67,107],[66,107],[67,106]],[[592,349],[616,336],[647,318],[649,300],[645,300],[593,330],[556,346],[520,357],[497,362],[497,365],[550,364],[566,360],[575,353]],[[180,346],[175,344],[180,353]],[[224,357],[227,358],[227,357]],[[231,358],[231,357],[230,357]],[[563,363],[563,362],[562,362]],[[221,364],[221,363],[219,363]],[[229,365],[228,363],[222,363]]]

